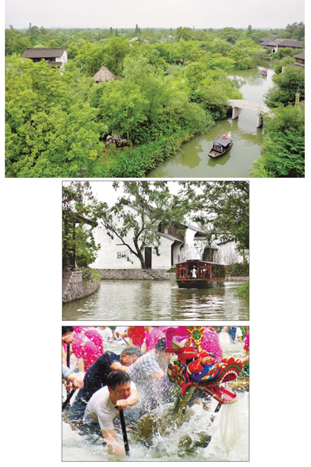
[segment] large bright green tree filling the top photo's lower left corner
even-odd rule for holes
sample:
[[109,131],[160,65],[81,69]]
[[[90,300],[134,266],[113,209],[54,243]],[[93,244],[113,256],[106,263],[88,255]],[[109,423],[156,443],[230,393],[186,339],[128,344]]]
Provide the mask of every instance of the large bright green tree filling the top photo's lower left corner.
[[7,58],[6,176],[99,176],[96,111],[81,87],[44,61]]

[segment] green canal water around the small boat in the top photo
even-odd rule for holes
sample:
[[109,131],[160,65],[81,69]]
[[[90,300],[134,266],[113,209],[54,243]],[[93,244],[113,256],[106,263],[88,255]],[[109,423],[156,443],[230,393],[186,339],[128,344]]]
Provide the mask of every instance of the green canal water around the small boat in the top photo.
[[[267,77],[262,70],[267,68]],[[244,100],[264,104],[263,98],[272,86],[274,70],[270,62],[249,70],[234,71],[229,76]],[[220,120],[207,133],[182,145],[180,151],[147,174],[147,178],[167,177],[248,177],[252,163],[261,155],[263,129],[256,128],[257,113],[240,109],[238,118]],[[216,159],[208,156],[213,140],[219,134],[232,132],[234,144],[229,152]]]

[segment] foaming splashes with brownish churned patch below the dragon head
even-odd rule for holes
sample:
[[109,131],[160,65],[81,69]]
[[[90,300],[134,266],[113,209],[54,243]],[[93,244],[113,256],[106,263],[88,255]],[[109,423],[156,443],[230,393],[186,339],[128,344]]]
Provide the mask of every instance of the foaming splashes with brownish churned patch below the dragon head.
[[[120,348],[121,347],[121,348]],[[119,353],[124,347],[118,342],[105,342],[105,350]],[[227,348],[228,347],[228,348]],[[243,356],[243,344],[231,344],[223,354]],[[153,393],[157,397],[157,386]],[[160,399],[160,395],[159,395]],[[126,422],[130,456],[124,461],[248,461],[249,460],[249,396],[239,392],[238,401],[223,405],[215,413],[217,402],[200,401],[187,406],[185,421],[171,421],[172,403],[162,403],[147,412],[133,427]],[[126,411],[124,411],[126,412]],[[141,426],[139,426],[141,425]],[[122,444],[122,432],[115,419],[117,440]],[[117,461],[102,443],[103,439],[86,436],[63,422],[63,461]]]

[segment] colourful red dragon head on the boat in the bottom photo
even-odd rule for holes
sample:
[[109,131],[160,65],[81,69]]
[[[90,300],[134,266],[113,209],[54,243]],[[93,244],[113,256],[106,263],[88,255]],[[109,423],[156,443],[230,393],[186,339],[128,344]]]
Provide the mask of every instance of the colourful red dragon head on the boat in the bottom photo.
[[196,387],[214,397],[220,405],[234,403],[237,399],[236,392],[223,384],[238,378],[242,369],[241,360],[215,358],[213,351],[202,347],[203,332],[204,328],[197,326],[167,329],[165,351],[175,354],[169,362],[167,373],[169,379],[180,386],[174,406],[176,419],[180,423]]

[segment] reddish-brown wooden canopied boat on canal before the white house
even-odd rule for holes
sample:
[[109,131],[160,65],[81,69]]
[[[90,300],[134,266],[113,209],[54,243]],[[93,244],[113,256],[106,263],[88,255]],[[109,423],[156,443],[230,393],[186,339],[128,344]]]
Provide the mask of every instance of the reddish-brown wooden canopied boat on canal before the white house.
[[224,280],[223,264],[198,259],[176,264],[176,282],[180,289],[208,289],[223,285]]

